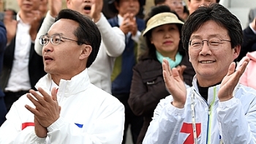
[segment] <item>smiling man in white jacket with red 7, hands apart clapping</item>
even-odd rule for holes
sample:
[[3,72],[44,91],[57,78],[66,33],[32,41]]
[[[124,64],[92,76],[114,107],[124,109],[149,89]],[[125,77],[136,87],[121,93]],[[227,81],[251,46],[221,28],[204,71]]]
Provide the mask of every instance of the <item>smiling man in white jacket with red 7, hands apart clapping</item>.
[[249,58],[235,71],[241,24],[220,4],[199,7],[182,31],[196,75],[186,89],[178,69],[162,64],[171,96],[154,110],[144,144],[256,143],[256,91],[238,83]]

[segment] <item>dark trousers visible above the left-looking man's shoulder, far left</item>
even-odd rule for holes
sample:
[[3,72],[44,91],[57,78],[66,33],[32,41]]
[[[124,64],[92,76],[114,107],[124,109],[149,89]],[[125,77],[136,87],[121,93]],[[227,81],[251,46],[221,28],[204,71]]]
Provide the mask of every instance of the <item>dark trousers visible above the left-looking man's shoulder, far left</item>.
[[13,102],[16,102],[20,96],[28,93],[29,91],[18,91],[18,92],[4,92],[4,102],[5,102],[5,107],[7,108],[7,112],[10,110],[12,107]]

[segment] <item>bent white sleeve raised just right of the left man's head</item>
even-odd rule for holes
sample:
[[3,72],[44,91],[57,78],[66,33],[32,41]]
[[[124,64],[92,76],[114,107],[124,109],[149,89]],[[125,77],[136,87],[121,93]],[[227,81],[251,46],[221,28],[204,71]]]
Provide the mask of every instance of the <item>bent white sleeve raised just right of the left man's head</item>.
[[102,35],[102,44],[105,45],[108,56],[120,56],[125,48],[124,33],[118,27],[112,28],[102,13],[96,25]]

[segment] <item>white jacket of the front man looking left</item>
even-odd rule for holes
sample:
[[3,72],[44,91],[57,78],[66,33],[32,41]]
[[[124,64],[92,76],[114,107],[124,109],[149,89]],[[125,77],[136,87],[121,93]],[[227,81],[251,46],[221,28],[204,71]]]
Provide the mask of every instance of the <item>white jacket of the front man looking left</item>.
[[[50,75],[37,83],[50,94]],[[7,121],[0,128],[0,143],[55,144],[120,144],[124,132],[124,105],[114,96],[92,85],[87,69],[71,80],[61,80],[57,94],[61,106],[60,118],[51,124],[48,137],[34,132],[34,114],[25,105],[34,105],[23,95],[16,101]]]

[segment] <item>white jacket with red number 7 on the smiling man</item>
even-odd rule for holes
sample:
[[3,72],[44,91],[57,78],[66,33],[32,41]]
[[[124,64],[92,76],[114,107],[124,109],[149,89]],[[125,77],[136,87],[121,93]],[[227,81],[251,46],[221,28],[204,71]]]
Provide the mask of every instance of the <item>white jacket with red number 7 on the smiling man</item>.
[[143,144],[193,144],[192,94],[195,94],[195,127],[198,144],[255,144],[256,90],[238,84],[235,95],[219,102],[219,85],[208,88],[208,102],[200,96],[194,78],[182,109],[171,105],[172,96],[162,99],[154,110]]

